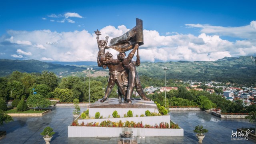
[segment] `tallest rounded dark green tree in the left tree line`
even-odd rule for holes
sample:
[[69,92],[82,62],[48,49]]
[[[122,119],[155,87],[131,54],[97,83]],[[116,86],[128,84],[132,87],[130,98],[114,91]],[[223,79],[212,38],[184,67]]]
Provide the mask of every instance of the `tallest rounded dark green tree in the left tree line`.
[[39,77],[40,84],[46,84],[53,91],[58,86],[58,77],[54,72],[43,71]]

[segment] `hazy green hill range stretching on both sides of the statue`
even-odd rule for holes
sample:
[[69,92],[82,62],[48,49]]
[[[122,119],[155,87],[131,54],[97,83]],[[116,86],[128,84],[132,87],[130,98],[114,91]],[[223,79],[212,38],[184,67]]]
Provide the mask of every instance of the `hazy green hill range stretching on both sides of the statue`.
[[[56,63],[56,62],[54,62]],[[52,71],[58,76],[84,76],[86,68],[93,67],[94,76],[107,76],[108,69],[102,69],[94,65],[94,62],[80,62],[54,64],[38,60],[0,60],[0,76],[6,76],[13,71],[38,72]],[[81,64],[92,65],[81,65]],[[72,64],[73,66],[66,65]],[[214,80],[219,82],[236,82],[238,84],[256,84],[256,64],[250,56],[224,57],[216,61],[178,61],[178,62],[142,62],[137,67],[140,76],[148,76],[163,79],[165,72],[162,67],[166,66],[167,79],[178,80]],[[95,74],[97,73],[98,74]]]

